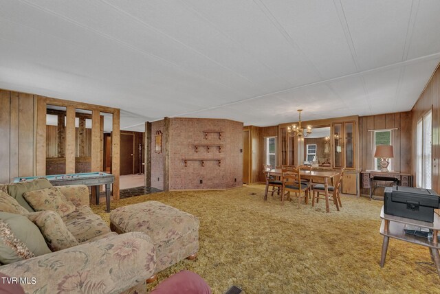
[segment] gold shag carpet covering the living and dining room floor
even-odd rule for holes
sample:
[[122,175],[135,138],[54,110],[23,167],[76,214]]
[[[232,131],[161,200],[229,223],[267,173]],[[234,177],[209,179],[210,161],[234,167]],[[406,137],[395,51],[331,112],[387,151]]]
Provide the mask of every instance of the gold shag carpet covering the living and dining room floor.
[[[440,293],[426,247],[391,239],[379,266],[381,201],[342,196],[342,209],[296,199],[263,201],[264,185],[225,191],[160,192],[112,202],[111,208],[161,201],[200,219],[199,256],[159,273],[195,271],[213,293]],[[104,220],[104,204],[92,207]],[[426,262],[426,263],[425,263]],[[157,282],[148,285],[153,289]]]

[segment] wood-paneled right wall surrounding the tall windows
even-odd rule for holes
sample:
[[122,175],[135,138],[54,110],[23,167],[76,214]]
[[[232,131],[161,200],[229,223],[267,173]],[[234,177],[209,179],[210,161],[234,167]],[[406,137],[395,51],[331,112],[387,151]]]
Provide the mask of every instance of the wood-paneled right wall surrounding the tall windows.
[[[416,181],[417,122],[432,109],[432,189],[440,192],[440,67],[434,71],[428,84],[412,107],[412,174]],[[416,184],[416,183],[415,183]]]

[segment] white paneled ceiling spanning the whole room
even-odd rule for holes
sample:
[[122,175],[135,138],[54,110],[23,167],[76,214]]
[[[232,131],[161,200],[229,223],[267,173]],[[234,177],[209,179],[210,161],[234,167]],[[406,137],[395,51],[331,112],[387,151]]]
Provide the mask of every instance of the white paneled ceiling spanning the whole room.
[[438,0],[0,0],[0,88],[122,109],[121,127],[408,111]]

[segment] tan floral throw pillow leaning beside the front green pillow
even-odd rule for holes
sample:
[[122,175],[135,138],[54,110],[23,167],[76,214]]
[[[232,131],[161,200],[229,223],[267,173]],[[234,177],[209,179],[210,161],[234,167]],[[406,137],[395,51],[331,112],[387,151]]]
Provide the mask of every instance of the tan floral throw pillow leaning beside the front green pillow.
[[56,212],[45,210],[44,212],[31,212],[27,216],[39,227],[50,250],[58,251],[79,244]]

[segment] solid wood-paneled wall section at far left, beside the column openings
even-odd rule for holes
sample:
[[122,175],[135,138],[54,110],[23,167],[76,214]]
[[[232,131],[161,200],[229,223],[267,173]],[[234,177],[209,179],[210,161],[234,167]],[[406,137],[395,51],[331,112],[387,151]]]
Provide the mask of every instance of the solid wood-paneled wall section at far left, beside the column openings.
[[0,90],[0,183],[36,172],[36,95]]

